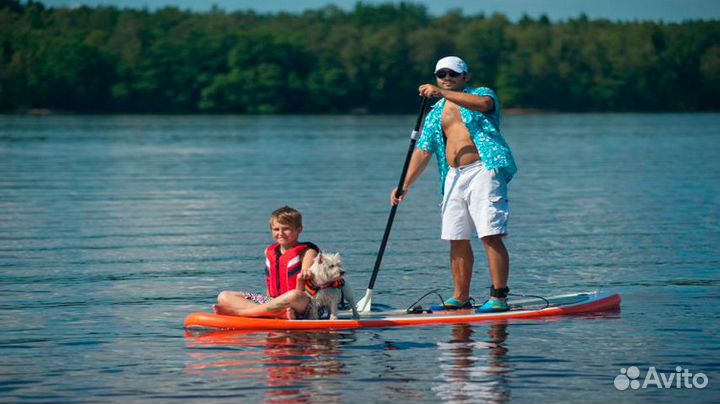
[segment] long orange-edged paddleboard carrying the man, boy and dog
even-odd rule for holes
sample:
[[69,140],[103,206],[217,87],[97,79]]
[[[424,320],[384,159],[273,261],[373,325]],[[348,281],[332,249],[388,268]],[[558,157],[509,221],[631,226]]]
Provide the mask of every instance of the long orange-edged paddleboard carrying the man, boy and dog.
[[574,293],[546,299],[549,305],[541,299],[534,298],[510,301],[510,310],[500,313],[479,314],[475,313],[474,309],[443,310],[432,313],[407,313],[405,310],[393,310],[361,313],[358,320],[354,320],[349,312],[342,312],[337,320],[285,320],[192,313],[185,319],[185,327],[236,330],[339,330],[459,324],[617,310],[621,300],[618,294],[600,292]]

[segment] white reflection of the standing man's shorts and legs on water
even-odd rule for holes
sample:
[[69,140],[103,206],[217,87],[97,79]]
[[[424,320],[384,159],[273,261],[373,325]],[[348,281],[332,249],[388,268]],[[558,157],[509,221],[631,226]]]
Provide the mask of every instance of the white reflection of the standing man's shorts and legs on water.
[[438,342],[442,380],[433,386],[438,398],[453,403],[508,402],[507,337],[507,322],[476,328],[454,325],[450,341]]

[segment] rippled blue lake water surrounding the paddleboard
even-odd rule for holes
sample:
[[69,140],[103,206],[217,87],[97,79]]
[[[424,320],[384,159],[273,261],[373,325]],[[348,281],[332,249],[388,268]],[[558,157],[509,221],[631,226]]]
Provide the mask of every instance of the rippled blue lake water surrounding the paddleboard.
[[[605,290],[597,316],[186,334],[263,289],[267,217],[343,254],[364,294],[414,117],[0,116],[5,402],[717,402],[720,115],[511,116],[513,292]],[[451,293],[435,163],[398,212],[374,304]],[[482,247],[473,279],[489,280]],[[620,370],[704,389],[619,391]]]

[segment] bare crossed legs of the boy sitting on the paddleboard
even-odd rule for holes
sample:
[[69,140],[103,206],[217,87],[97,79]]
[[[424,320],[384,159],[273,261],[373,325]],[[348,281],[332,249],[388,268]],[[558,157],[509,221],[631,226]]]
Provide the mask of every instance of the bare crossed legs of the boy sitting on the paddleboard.
[[[275,299],[263,304],[257,304],[240,297],[241,293],[221,293],[218,296],[218,306],[221,314],[244,317],[294,317],[294,312],[305,311],[310,298],[299,290],[291,290]],[[249,303],[249,304],[248,304]]]

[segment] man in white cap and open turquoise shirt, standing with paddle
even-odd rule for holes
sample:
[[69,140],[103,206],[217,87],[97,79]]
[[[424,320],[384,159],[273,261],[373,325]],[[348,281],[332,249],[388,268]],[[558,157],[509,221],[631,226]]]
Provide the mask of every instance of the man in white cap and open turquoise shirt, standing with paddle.
[[432,155],[440,168],[442,194],[441,238],[450,241],[450,269],[454,293],[433,310],[472,307],[470,280],[474,256],[473,232],[487,253],[492,286],[490,298],[479,313],[508,310],[506,303],[510,256],[503,243],[507,234],[509,204],[507,184],[517,171],[512,152],[500,133],[500,103],[487,87],[468,87],[467,64],[456,56],[440,59],[435,66],[437,84],[423,84],[423,97],[440,97],[425,118],[422,135],[413,152],[404,192],[391,193],[393,205],[402,202]]

